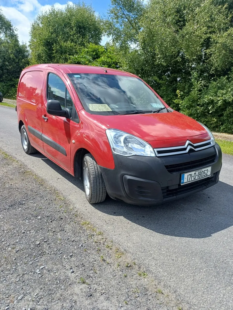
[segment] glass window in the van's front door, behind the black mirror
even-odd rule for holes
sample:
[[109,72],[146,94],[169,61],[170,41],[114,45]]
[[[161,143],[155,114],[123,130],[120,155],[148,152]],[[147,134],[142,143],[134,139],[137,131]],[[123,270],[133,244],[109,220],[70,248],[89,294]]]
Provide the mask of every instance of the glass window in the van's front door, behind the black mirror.
[[54,73],[48,74],[48,100],[58,100],[63,108],[72,111],[73,101],[64,82]]

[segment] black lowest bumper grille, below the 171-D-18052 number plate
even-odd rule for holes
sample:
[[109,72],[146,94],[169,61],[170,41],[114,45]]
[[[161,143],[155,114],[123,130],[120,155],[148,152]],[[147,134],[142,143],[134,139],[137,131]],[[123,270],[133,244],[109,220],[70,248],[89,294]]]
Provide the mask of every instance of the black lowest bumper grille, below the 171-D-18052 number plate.
[[168,187],[162,187],[162,196],[163,198],[168,198],[168,197],[179,196],[184,193],[189,193],[195,189],[201,188],[205,185],[208,185],[214,182],[215,177],[216,177],[216,172],[210,178],[202,179],[200,181],[195,181],[195,182],[192,182],[186,185],[179,184],[178,187],[174,189],[168,189]]

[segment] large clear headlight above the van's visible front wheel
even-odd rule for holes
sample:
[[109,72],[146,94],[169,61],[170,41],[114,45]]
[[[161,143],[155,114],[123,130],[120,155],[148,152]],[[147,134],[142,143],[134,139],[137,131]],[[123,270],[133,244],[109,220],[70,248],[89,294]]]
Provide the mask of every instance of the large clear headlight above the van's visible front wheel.
[[107,129],[106,135],[112,148],[112,153],[122,156],[155,156],[152,146],[134,135],[118,129]]

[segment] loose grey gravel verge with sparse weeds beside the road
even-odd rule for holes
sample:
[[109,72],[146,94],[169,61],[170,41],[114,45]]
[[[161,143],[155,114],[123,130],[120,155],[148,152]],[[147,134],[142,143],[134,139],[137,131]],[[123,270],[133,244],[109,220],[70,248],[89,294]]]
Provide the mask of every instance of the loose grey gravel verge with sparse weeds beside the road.
[[1,310],[185,309],[68,200],[1,151],[0,187]]

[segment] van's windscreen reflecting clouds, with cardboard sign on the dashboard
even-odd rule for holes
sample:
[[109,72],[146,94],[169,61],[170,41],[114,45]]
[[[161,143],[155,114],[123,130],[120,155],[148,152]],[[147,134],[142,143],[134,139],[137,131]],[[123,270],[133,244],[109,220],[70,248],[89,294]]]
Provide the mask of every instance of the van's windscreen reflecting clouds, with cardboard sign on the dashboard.
[[167,109],[153,91],[139,78],[92,73],[69,73],[68,76],[85,108],[91,114],[117,115],[166,113]]

